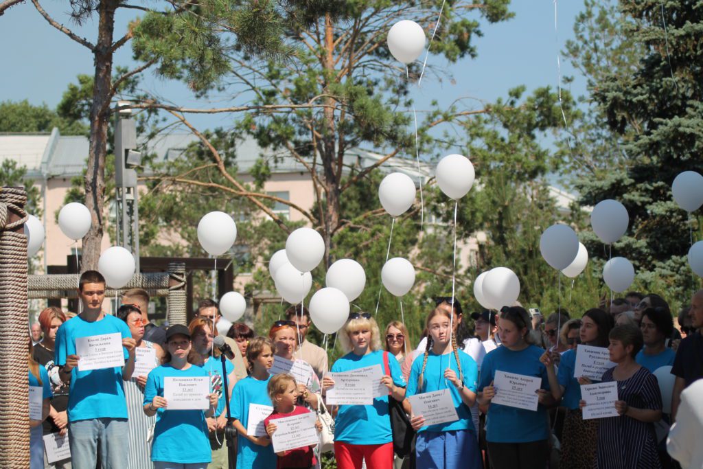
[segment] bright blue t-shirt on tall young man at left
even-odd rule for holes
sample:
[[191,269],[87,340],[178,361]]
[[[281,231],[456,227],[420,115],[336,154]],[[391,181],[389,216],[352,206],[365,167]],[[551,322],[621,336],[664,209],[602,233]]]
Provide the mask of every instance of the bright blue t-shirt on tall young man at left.
[[[105,314],[100,321],[85,321],[80,315],[61,324],[56,332],[54,362],[66,364],[66,357],[76,353],[76,339],[91,335],[120,333],[122,338],[131,338],[127,323],[115,316]],[[124,349],[124,359],[129,352]],[[90,418],[127,418],[127,401],[122,387],[122,367],[101,370],[71,370],[71,385],[68,393],[68,421]]]

